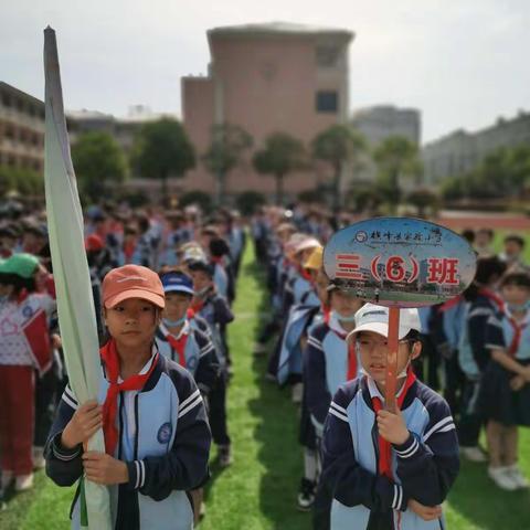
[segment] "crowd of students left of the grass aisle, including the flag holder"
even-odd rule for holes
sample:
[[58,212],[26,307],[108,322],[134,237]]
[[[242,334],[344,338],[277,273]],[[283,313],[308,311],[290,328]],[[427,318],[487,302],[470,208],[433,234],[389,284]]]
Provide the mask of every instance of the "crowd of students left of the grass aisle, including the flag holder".
[[[153,510],[166,524],[178,517],[174,528],[190,528],[190,506],[195,520],[202,507],[211,439],[220,466],[233,458],[227,327],[245,232],[236,212],[205,219],[195,208],[91,208],[85,224],[102,391],[97,401],[78,403],[64,368],[44,212],[8,209],[1,221],[1,490],[30,489],[33,470],[47,460],[60,485],[83,473],[119,484],[117,528],[155,528],[141,522]],[[83,446],[102,426],[110,464]],[[110,475],[102,478],[105,465]],[[150,505],[173,490],[189,491],[191,504],[182,494],[174,504]],[[132,511],[125,508],[131,492],[140,499]],[[83,512],[80,497],[74,526]]]

